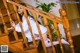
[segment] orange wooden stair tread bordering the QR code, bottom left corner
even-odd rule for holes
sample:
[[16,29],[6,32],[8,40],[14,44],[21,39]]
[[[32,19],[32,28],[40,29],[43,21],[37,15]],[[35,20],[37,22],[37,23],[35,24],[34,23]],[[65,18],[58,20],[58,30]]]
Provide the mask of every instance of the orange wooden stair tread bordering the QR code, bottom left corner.
[[[14,52],[21,53],[21,52],[23,51],[23,48],[22,48],[22,46],[20,46],[20,45],[8,44],[9,42],[7,42],[7,41],[5,41],[5,40],[0,40],[0,41],[2,41],[2,42],[0,43],[0,45],[2,45],[2,44],[7,44],[8,47],[11,48],[10,51],[13,52],[13,53],[14,53]],[[16,44],[17,44],[17,43],[16,43]],[[18,43],[18,44],[19,44],[19,43]]]

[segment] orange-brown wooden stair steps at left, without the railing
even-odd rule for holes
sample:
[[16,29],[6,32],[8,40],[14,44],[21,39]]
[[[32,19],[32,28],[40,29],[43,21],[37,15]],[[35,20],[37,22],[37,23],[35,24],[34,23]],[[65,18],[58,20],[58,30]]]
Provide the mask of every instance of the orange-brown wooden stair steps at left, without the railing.
[[[7,3],[7,6],[8,6],[12,20],[16,21],[17,20],[15,16],[16,12],[13,10],[12,5]],[[7,28],[11,27],[7,9],[5,8],[3,0],[0,0],[0,12],[3,16],[4,23],[7,26]],[[32,53],[32,52],[37,53],[37,49],[34,47],[24,48],[25,45],[23,43],[23,38],[19,39],[18,41],[15,41],[15,38],[11,31],[8,31],[8,32],[11,32],[10,35],[12,36],[9,36],[9,33],[6,34],[4,32],[4,24],[1,19],[1,14],[0,14],[0,27],[1,27],[0,28],[0,45],[8,45],[9,51],[13,53]],[[39,44],[39,41],[38,41],[38,44]]]

